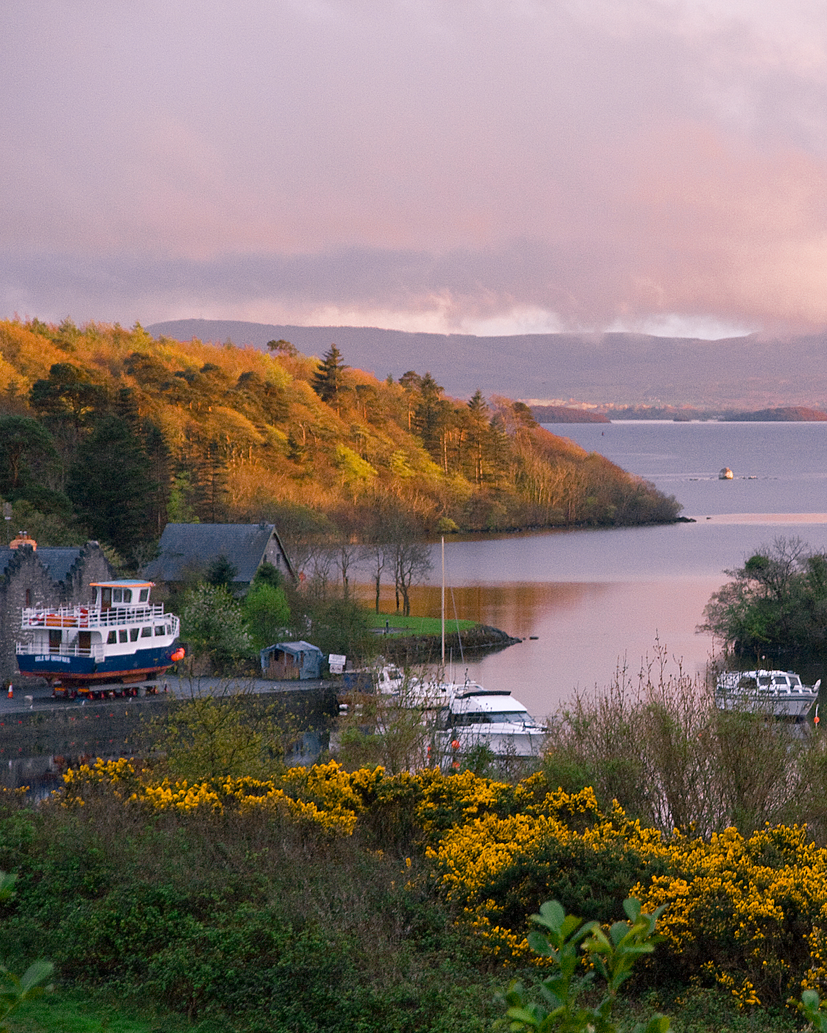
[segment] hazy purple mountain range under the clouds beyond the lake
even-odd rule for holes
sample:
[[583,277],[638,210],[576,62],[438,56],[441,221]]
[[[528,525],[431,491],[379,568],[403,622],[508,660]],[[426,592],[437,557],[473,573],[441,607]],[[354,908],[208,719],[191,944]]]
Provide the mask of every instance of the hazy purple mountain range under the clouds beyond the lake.
[[430,370],[449,395],[504,395],[537,404],[690,405],[712,409],[827,407],[827,332],[703,341],[647,334],[416,334],[373,326],[280,326],[176,319],[155,337],[265,348],[284,339],[307,354],[336,344],[349,366],[395,379]]

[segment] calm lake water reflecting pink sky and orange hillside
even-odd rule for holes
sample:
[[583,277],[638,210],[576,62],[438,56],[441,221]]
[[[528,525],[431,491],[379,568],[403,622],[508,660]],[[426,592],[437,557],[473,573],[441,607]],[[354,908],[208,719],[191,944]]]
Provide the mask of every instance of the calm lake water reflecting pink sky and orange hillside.
[[[827,422],[549,425],[675,495],[697,523],[446,540],[447,618],[480,620],[525,640],[455,677],[511,689],[538,716],[576,689],[636,674],[666,649],[673,669],[704,674],[713,643],[697,634],[709,596],[759,545],[798,536],[827,550]],[[718,480],[729,466],[733,480]],[[439,615],[439,545],[415,613]],[[453,595],[452,595],[453,590]],[[392,593],[384,599],[392,608]],[[447,624],[449,621],[447,620]],[[537,640],[529,640],[537,635]]]

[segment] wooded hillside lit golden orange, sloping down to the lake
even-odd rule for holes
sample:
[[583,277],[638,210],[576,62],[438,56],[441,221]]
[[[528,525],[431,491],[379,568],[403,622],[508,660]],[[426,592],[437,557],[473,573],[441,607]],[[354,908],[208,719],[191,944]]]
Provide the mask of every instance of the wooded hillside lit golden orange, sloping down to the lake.
[[[346,358],[346,356],[344,356]],[[416,365],[416,356],[411,356]],[[90,323],[0,321],[0,496],[43,543],[133,564],[167,521],[275,522],[288,539],[619,525],[678,505],[478,392]]]

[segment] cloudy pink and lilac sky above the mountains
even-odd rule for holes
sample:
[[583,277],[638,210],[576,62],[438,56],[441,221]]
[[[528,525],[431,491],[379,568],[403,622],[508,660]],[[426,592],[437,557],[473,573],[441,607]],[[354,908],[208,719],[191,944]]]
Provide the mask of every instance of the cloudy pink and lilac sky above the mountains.
[[827,324],[827,5],[31,0],[0,316]]

